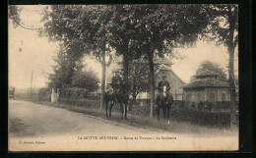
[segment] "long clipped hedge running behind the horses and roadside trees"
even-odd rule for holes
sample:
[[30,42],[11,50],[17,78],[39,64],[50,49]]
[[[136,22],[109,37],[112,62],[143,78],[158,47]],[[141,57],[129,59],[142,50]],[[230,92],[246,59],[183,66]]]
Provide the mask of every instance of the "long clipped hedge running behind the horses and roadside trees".
[[[67,99],[59,98],[60,102],[81,106],[85,108],[99,108],[99,99]],[[141,104],[147,103],[147,104]],[[130,104],[132,110],[128,111],[131,115],[137,115],[142,117],[150,117],[150,104],[149,100],[137,100],[136,103],[131,100]],[[144,106],[141,106],[144,105]],[[215,126],[215,127],[228,127],[230,122],[230,112],[226,110],[229,107],[229,102],[200,102],[191,103],[186,101],[174,101],[170,110],[170,119],[179,122],[189,122],[202,126]],[[120,104],[115,103],[112,107],[113,112],[120,112]],[[157,116],[156,110],[154,115]],[[149,118],[150,119],[150,118]],[[160,109],[160,119],[162,119],[162,110]],[[238,120],[238,114],[237,114]]]

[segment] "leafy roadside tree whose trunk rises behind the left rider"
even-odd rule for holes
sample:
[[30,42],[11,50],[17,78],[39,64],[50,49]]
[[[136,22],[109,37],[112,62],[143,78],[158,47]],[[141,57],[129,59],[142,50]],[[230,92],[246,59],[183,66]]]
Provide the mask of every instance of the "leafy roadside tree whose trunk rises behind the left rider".
[[113,14],[113,23],[111,24],[110,45],[115,48],[116,55],[123,56],[123,77],[124,82],[129,78],[129,61],[140,56],[134,48],[135,43],[135,24],[133,5],[115,5]]

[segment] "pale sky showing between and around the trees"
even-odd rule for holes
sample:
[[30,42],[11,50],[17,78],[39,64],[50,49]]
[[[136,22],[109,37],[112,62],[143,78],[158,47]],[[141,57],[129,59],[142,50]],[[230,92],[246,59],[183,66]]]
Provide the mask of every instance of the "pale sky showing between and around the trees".
[[[44,6],[22,6],[22,25],[40,27],[41,12]],[[47,84],[47,74],[52,73],[52,66],[56,65],[53,58],[58,51],[58,42],[49,42],[46,37],[39,37],[36,30],[21,26],[14,27],[9,23],[9,86],[16,88],[44,87]],[[172,59],[172,70],[183,81],[189,82],[195,75],[200,63],[206,60],[215,62],[224,68],[227,74],[228,54],[224,46],[214,43],[198,41],[194,48],[176,49],[182,59]],[[238,69],[237,50],[234,70]],[[88,67],[94,70],[100,79],[101,67],[94,60],[85,60]],[[33,75],[32,75],[33,72]]]

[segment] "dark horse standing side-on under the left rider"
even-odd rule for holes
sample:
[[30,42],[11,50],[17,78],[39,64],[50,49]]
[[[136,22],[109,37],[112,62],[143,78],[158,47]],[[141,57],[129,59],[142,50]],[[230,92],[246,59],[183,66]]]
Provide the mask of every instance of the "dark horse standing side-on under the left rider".
[[[107,111],[109,111],[109,117],[111,117],[111,110],[114,103],[120,103],[120,110],[121,110],[121,119],[123,119],[123,113],[124,118],[127,119],[127,106],[129,100],[129,95],[124,90],[123,85],[121,85],[117,91],[116,94],[113,92],[113,90],[107,90],[105,93],[105,114],[106,117],[108,117]],[[108,109],[108,103],[110,102],[109,109]],[[123,106],[124,105],[124,106]],[[131,111],[131,107],[129,106],[129,110]]]

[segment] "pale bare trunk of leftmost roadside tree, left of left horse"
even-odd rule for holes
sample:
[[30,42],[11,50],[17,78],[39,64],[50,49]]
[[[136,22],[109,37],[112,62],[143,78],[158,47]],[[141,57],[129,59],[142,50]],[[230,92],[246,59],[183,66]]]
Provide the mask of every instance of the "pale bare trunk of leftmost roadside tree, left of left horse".
[[102,49],[102,61],[101,61],[101,68],[102,68],[102,78],[101,78],[101,97],[100,97],[100,110],[103,109],[104,101],[105,101],[105,42]]

